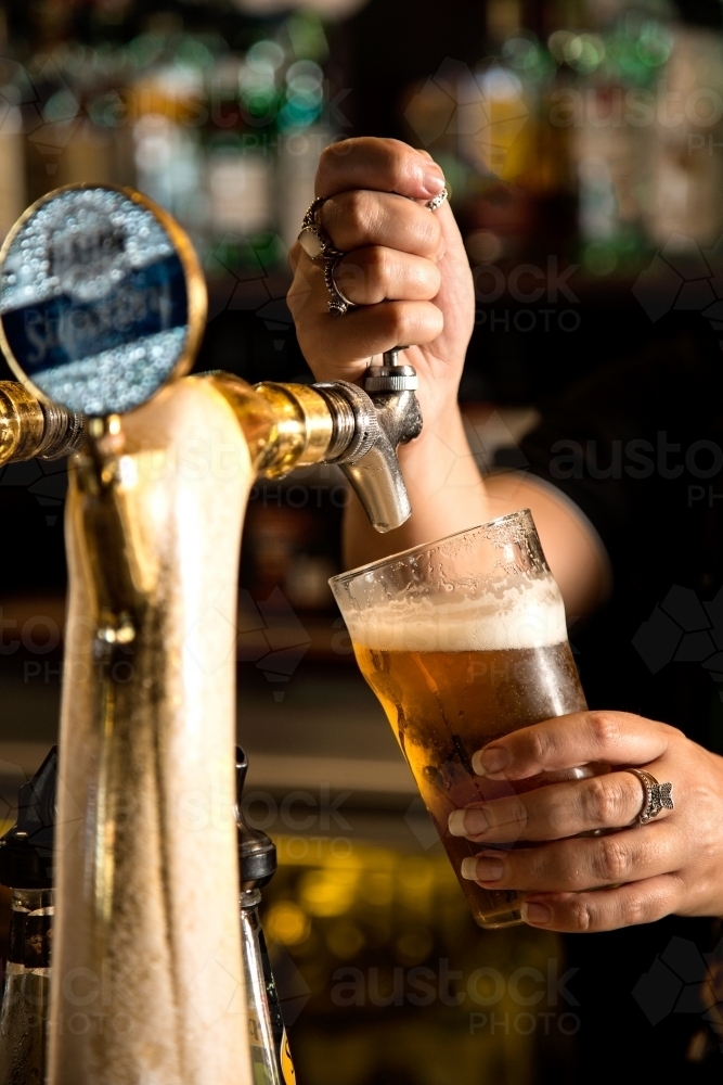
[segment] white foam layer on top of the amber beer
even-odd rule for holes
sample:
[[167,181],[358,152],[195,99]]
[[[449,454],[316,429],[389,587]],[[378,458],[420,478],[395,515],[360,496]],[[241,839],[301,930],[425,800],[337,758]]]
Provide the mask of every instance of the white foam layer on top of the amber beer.
[[393,600],[345,616],[354,643],[376,651],[491,652],[567,640],[565,604],[552,577],[511,578],[477,599]]

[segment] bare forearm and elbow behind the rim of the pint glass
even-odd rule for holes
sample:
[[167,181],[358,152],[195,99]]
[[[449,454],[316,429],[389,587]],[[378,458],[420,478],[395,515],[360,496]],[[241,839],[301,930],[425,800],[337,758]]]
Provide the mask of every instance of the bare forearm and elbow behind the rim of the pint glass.
[[422,435],[399,449],[412,515],[397,531],[375,532],[356,497],[345,518],[347,569],[530,509],[568,616],[594,610],[609,585],[607,559],[584,519],[552,487],[505,472],[482,478],[456,404],[439,410]]

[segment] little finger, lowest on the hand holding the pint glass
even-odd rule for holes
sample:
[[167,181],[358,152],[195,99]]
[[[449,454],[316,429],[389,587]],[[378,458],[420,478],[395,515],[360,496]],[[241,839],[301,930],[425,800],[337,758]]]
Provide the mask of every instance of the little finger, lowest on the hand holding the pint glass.
[[530,927],[589,934],[653,923],[679,911],[682,898],[682,879],[671,873],[594,893],[528,897],[522,903],[521,912],[524,922]]

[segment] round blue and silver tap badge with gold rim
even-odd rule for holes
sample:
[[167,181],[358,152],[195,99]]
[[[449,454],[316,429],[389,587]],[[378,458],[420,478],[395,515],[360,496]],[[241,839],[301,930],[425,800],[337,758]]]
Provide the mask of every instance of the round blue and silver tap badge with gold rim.
[[143,196],[101,187],[51,193],[3,246],[0,340],[11,366],[79,413],[139,407],[189,368],[196,271],[185,235]]

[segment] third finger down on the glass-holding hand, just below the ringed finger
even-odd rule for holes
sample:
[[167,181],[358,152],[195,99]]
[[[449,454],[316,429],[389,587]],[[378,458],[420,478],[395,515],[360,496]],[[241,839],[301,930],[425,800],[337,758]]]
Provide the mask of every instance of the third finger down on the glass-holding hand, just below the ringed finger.
[[485,889],[580,893],[679,870],[688,848],[680,831],[661,824],[541,847],[489,848],[463,859],[461,873]]

